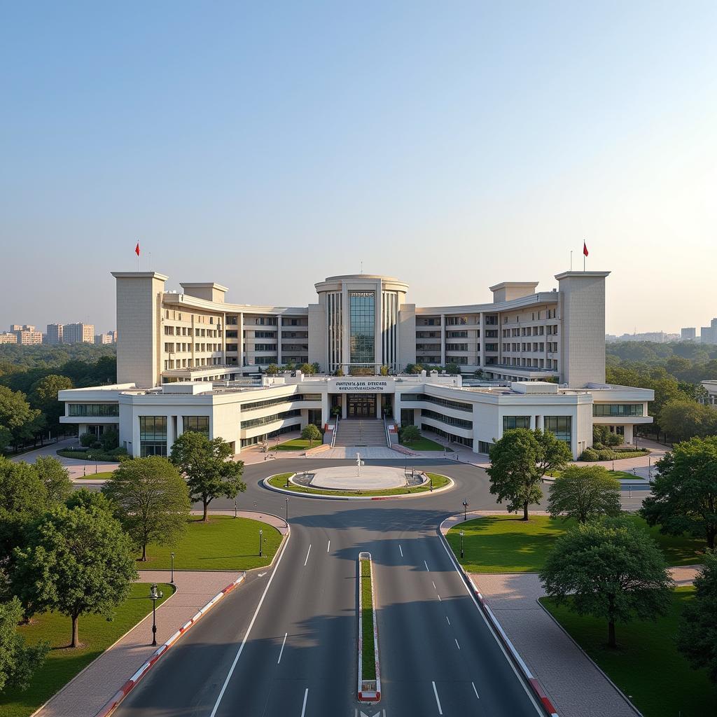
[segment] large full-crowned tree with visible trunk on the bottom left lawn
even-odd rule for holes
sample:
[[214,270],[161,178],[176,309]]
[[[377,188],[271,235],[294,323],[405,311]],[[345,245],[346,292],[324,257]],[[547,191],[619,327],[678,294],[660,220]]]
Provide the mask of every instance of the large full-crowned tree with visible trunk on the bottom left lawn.
[[56,506],[35,524],[15,556],[18,597],[35,609],[70,617],[70,647],[80,644],[80,617],[110,612],[128,597],[137,578],[130,536],[95,506]]

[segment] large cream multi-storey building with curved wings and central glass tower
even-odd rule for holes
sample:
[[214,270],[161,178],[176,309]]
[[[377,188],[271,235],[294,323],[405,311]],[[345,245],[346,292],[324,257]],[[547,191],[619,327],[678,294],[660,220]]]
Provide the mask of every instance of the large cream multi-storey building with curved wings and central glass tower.
[[[172,292],[157,272],[114,272],[118,384],[60,391],[62,422],[114,424],[132,455],[166,455],[185,430],[237,452],[308,423],[329,441],[341,438],[336,414],[383,419],[384,445],[399,422],[475,452],[514,427],[550,430],[575,456],[594,423],[631,442],[652,422],[653,394],[604,383],[608,274],[564,272],[546,292],[503,282],[489,303],[443,307],[407,303],[408,285],[392,277],[344,275],[318,282],[315,304],[275,307],[226,303],[212,282]],[[326,375],[263,371],[305,363]],[[415,364],[461,374],[402,374]]]

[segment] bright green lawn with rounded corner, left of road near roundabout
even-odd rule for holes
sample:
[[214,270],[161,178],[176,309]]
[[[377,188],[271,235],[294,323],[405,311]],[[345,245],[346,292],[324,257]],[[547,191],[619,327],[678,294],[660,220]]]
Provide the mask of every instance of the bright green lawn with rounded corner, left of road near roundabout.
[[[263,531],[259,557],[259,531]],[[174,552],[175,570],[250,570],[270,564],[281,543],[281,533],[268,523],[234,516],[212,516],[202,523],[192,516],[175,546],[147,546],[147,561],[140,570],[169,569]]]

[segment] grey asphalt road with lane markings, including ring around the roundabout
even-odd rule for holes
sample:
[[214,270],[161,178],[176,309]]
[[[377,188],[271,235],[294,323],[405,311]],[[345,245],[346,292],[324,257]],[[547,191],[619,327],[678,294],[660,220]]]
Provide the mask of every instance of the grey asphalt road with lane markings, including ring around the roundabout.
[[[283,516],[285,497],[262,488],[261,479],[317,463],[350,462],[247,466],[240,507]],[[252,576],[209,612],[162,657],[116,715],[542,714],[437,533],[443,518],[462,510],[463,500],[470,509],[495,509],[485,472],[445,460],[414,465],[450,475],[455,488],[373,502],[291,497],[291,538],[273,569]],[[227,500],[211,505],[233,507]],[[371,552],[376,579],[382,698],[374,707],[356,701],[359,551]]]

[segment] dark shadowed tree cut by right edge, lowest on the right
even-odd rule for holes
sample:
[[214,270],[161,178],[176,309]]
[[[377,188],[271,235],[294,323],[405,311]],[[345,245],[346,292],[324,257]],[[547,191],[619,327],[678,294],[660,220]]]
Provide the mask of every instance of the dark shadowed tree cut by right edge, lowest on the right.
[[693,668],[706,668],[717,683],[717,554],[708,551],[694,581],[695,598],[683,609],[677,635],[678,650]]

